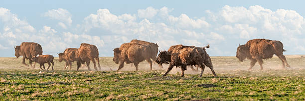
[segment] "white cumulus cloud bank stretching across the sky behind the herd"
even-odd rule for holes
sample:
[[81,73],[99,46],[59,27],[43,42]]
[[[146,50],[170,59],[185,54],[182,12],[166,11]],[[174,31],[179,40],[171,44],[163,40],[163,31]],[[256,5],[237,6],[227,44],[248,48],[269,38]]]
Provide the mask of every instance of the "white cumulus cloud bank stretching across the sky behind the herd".
[[[266,38],[280,40],[285,53],[304,53],[304,17],[288,9],[270,10],[260,5],[249,7],[225,5],[213,12],[205,10],[206,16],[192,17],[181,13],[172,15],[173,8],[147,7],[138,12],[114,14],[107,8],[97,9],[87,15],[76,28],[69,30],[72,19],[65,9],[51,9],[43,16],[57,19],[56,26],[36,29],[25,20],[18,19],[6,8],[0,8],[0,49],[19,45],[23,41],[40,43],[46,53],[57,53],[66,48],[77,48],[81,43],[94,44],[101,56],[112,56],[112,49],[132,39],[145,40],[167,50],[182,44],[204,47],[210,55],[235,55],[238,44],[250,39]],[[303,39],[302,39],[303,38]]]

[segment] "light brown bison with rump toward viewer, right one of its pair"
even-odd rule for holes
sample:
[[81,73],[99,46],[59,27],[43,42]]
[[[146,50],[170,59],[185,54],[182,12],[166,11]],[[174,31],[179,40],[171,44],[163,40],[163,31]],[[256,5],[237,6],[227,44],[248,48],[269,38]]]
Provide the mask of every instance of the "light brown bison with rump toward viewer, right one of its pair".
[[95,45],[90,45],[86,43],[82,43],[79,47],[79,49],[76,52],[76,57],[80,58],[80,61],[77,62],[77,71],[79,67],[81,66],[81,63],[83,64],[84,62],[87,63],[88,70],[90,71],[90,60],[93,62],[94,69],[98,70],[96,68],[96,62],[98,62],[99,69],[101,70],[101,65],[100,65],[100,59],[99,59],[99,50]]

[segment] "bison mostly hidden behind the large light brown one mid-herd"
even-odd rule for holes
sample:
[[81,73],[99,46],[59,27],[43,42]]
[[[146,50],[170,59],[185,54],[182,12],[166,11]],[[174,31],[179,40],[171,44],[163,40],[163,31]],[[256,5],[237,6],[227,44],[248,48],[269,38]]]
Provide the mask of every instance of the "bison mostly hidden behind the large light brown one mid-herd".
[[[137,39],[134,39],[130,42],[135,42],[135,43],[139,43],[139,44],[143,44],[143,45],[148,45],[149,50],[151,50],[151,53],[148,54],[148,55],[151,57],[152,61],[156,60],[156,56],[158,54],[158,47],[159,47],[156,43],[154,44],[154,43],[150,43],[150,42],[146,42],[146,41],[142,41],[142,40],[137,40]],[[163,66],[160,65],[160,64],[159,64],[159,67],[163,68]],[[152,70],[152,68],[151,68],[151,70]]]

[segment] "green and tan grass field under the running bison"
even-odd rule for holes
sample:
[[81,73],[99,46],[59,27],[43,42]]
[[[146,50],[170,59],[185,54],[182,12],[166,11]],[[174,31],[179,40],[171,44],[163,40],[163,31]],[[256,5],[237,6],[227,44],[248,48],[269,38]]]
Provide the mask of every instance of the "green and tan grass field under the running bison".
[[[141,62],[139,70],[126,64],[122,71],[112,57],[100,57],[102,71],[87,68],[63,70],[64,63],[55,58],[55,71],[41,71],[20,67],[21,59],[0,57],[0,101],[3,100],[305,100],[305,57],[286,56],[292,68],[282,69],[282,62],[274,56],[264,60],[264,70],[256,64],[247,71],[250,61],[239,62],[236,57],[211,57],[217,77],[205,68],[190,68],[180,77],[180,68],[169,75],[167,69],[154,65],[149,70]],[[26,61],[28,64],[28,61]],[[46,64],[47,66],[47,64]],[[91,63],[91,70],[94,70]]]

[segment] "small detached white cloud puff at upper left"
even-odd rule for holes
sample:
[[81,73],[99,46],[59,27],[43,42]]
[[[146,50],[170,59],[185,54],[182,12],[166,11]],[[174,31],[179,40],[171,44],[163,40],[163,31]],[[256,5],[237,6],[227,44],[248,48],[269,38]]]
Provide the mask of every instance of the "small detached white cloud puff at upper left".
[[63,8],[48,10],[47,12],[44,12],[43,16],[63,21],[69,26],[71,26],[72,23],[71,13]]

